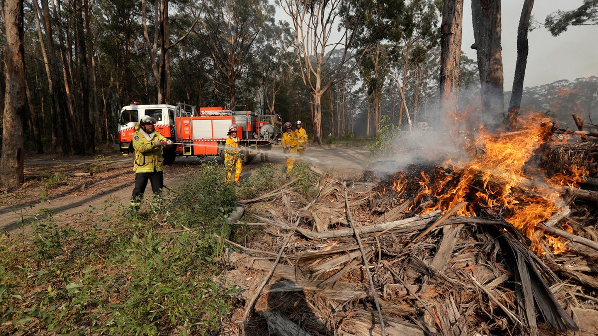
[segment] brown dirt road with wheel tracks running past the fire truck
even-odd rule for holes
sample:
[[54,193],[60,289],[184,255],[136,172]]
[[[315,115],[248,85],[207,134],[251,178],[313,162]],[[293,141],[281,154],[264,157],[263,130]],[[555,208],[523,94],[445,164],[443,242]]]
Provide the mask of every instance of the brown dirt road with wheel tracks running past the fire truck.
[[[368,164],[367,149],[357,146],[312,146],[306,152],[306,159],[314,167],[331,173],[338,179],[355,181],[361,178]],[[127,206],[133,190],[135,175],[132,170],[132,156],[119,153],[99,155],[94,158],[57,157],[52,155],[30,155],[25,158],[25,184],[21,188],[5,190],[0,194],[0,230],[11,231],[30,224],[39,218],[52,215],[54,221],[74,221],[90,209],[97,216],[114,212],[118,204]],[[207,158],[177,158],[175,164],[164,171],[164,185],[176,188],[184,181],[188,169],[200,166]],[[243,167],[241,178],[251,176],[252,170],[263,164],[276,167],[285,164],[280,148],[274,148],[269,161],[260,158]],[[86,172],[96,169],[93,176],[62,178],[54,181],[56,173]],[[65,182],[66,181],[66,182]],[[151,193],[148,186],[146,193]],[[44,198],[39,201],[39,198]]]

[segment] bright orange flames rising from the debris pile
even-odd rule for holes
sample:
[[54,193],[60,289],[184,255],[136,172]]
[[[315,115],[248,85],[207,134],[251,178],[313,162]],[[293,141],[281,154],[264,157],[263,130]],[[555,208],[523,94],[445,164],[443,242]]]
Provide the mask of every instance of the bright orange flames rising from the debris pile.
[[[554,253],[565,251],[566,241],[544,234],[538,224],[559,211],[565,204],[560,197],[564,188],[575,187],[587,176],[587,171],[574,166],[569,167],[569,175],[555,174],[546,178],[541,170],[530,169],[533,155],[542,150],[540,146],[550,138],[546,132],[547,123],[552,127],[547,118],[532,115],[526,120],[520,118],[519,125],[523,129],[518,132],[491,134],[481,129],[469,146],[471,158],[468,161],[447,161],[444,166],[450,168],[451,173],[445,173],[433,182],[422,172],[420,191],[415,200],[434,196],[436,203],[426,207],[424,213],[446,212],[461,201],[468,201],[468,206],[460,209],[457,215],[476,216],[476,207],[488,211],[497,209],[505,221],[530,239],[533,251],[539,255],[545,253],[542,242],[551,246]],[[533,180],[528,177],[530,172]],[[480,184],[481,188],[474,186]],[[404,184],[397,185],[404,187]]]

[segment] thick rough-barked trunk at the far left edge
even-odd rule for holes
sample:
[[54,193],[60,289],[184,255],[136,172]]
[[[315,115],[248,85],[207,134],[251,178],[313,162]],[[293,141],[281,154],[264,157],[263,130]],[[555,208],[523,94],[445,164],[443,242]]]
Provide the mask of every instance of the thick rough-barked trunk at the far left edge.
[[23,172],[23,116],[25,115],[25,33],[23,30],[23,0],[4,2],[6,45],[4,48],[4,78],[6,91],[2,116],[2,156],[0,186],[16,187],[25,182]]

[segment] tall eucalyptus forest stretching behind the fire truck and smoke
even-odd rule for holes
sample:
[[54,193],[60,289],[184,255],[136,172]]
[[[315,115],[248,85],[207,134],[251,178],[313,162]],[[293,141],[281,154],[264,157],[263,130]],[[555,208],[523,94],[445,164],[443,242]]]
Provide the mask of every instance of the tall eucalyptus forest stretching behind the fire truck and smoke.
[[[529,15],[533,1],[521,5],[518,34],[545,29]],[[596,8],[598,1],[584,0],[544,25],[553,35],[570,25],[596,25]],[[276,22],[277,9],[289,20]],[[474,0],[472,9],[477,60],[460,52],[460,35],[456,41],[443,30],[457,26],[460,34],[463,1],[4,1],[0,145],[3,163],[5,156],[17,163],[2,170],[18,169],[25,150],[93,154],[112,143],[118,111],[133,100],[243,105],[307,121],[316,143],[328,134],[375,135],[384,117],[405,131],[439,127],[449,112],[474,115],[467,127],[486,121],[484,114],[508,118],[514,106],[503,87],[510,83],[503,83],[502,63],[490,62],[500,56],[500,2]],[[448,84],[443,33],[460,54]],[[14,56],[19,48],[22,55]],[[13,63],[20,58],[22,66]],[[596,110],[596,77],[523,94],[524,69],[516,69],[514,80],[521,82],[512,95],[520,100],[517,111],[521,105],[559,118]],[[441,104],[443,87],[459,93],[449,112]],[[20,134],[13,132],[19,127]],[[15,148],[19,137],[22,148]]]

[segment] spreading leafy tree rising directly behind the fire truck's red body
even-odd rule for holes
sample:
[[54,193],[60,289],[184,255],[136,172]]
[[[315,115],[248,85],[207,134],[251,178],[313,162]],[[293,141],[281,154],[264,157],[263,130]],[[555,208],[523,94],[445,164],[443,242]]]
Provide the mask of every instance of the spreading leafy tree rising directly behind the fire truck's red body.
[[200,25],[193,29],[208,47],[215,73],[212,80],[226,88],[232,107],[236,100],[236,81],[249,59],[253,44],[264,23],[274,16],[274,6],[267,0],[205,0],[196,14]]

